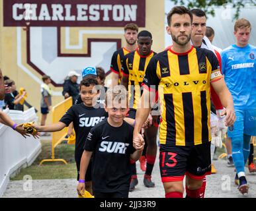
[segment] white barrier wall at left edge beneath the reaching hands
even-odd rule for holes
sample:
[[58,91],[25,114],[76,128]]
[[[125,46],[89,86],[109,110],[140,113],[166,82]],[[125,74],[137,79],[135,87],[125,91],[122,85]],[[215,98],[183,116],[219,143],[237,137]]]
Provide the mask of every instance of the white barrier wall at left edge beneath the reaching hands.
[[[15,123],[37,121],[34,107],[22,112],[4,110]],[[0,123],[0,197],[9,183],[9,177],[22,167],[30,166],[41,152],[39,139],[23,138],[19,133]]]

